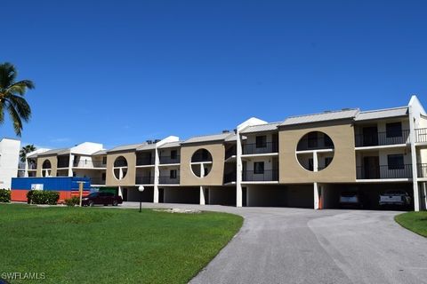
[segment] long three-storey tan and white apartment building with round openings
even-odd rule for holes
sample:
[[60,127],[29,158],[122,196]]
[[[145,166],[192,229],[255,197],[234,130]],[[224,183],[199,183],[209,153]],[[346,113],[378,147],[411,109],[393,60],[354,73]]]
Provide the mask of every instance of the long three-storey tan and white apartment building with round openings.
[[415,210],[426,204],[427,114],[415,96],[395,108],[250,118],[214,135],[101,147],[28,159],[37,177],[91,177],[125,201],[333,209],[340,193],[358,191],[375,209],[379,193],[400,189]]

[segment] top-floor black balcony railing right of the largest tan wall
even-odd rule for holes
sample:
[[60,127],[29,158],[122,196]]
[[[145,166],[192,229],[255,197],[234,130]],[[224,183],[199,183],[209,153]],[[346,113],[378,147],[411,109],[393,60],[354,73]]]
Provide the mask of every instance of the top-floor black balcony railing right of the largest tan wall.
[[357,147],[407,144],[408,138],[409,130],[357,134],[355,144]]

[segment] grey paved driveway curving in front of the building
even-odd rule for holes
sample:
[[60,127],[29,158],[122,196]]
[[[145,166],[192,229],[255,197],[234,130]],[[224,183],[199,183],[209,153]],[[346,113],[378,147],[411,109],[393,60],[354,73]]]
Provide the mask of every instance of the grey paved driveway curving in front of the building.
[[396,224],[398,212],[159,206],[245,217],[190,283],[427,283],[427,240]]

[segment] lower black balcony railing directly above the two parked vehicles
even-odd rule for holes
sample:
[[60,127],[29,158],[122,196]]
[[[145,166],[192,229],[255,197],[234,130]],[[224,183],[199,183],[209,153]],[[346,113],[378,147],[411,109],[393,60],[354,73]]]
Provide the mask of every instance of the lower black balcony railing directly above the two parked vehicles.
[[356,178],[358,179],[380,179],[380,178],[411,178],[412,165],[382,165],[377,167],[356,167]]

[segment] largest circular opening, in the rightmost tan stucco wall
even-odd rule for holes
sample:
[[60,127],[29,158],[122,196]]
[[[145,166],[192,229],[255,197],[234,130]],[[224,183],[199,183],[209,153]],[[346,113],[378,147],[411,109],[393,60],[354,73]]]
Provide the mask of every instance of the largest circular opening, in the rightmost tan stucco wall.
[[324,132],[311,131],[298,142],[296,158],[305,170],[325,170],[334,160],[334,142]]

